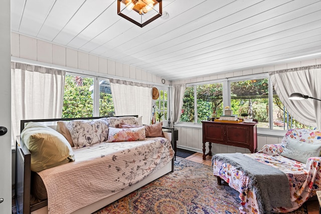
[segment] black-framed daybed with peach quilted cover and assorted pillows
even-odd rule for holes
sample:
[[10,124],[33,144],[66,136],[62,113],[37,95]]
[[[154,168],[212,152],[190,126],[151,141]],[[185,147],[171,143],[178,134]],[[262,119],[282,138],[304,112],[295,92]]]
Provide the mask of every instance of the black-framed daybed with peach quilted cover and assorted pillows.
[[92,213],[173,171],[162,124],[138,123],[131,116],[21,121],[18,213]]

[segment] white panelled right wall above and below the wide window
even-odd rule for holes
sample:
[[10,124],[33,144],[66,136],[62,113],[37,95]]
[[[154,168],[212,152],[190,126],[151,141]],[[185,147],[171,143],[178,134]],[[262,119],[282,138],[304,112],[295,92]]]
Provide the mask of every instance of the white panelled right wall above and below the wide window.
[[[210,80],[219,80],[231,77],[240,77],[245,75],[253,75],[253,74],[261,74],[267,73],[270,71],[282,70],[282,69],[290,69],[290,68],[297,68],[302,66],[310,66],[310,65],[318,65],[321,64],[321,58],[317,59],[310,59],[298,62],[291,62],[286,64],[278,64],[268,67],[262,68],[255,68],[250,70],[240,70],[235,71],[227,74],[217,74],[211,75],[206,77],[199,77],[195,79],[186,79],[186,80],[179,80],[179,81],[172,81],[172,85],[178,84],[188,84],[188,83],[197,83],[197,82],[205,82]],[[177,125],[175,126],[179,130],[179,140],[177,142],[177,146],[180,148],[190,149],[197,152],[203,152],[203,139],[202,139],[202,127],[201,125],[195,125],[195,127],[188,127],[184,125]],[[282,140],[282,137],[279,133],[270,133],[270,134],[260,134],[258,132],[257,136],[257,149],[259,150],[265,144],[273,144],[278,143]],[[206,144],[206,152],[208,152],[208,143]],[[239,148],[234,146],[227,146],[221,144],[212,143],[212,152],[215,153],[233,153],[233,152],[241,152],[241,153],[250,153],[250,150],[245,148]]]

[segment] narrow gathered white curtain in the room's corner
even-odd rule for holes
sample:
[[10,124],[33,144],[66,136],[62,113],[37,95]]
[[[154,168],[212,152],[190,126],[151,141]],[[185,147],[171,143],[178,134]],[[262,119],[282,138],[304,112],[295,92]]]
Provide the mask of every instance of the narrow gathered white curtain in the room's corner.
[[182,114],[182,106],[183,106],[183,98],[185,93],[186,85],[174,85],[173,86],[173,121],[174,124],[180,121],[180,117]]

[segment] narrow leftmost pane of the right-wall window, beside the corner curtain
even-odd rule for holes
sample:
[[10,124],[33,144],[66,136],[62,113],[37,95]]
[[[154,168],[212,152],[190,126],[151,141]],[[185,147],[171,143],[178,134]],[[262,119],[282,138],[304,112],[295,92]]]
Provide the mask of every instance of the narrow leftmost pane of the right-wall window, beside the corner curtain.
[[182,115],[180,118],[182,122],[195,122],[194,117],[194,88],[187,87],[183,98]]

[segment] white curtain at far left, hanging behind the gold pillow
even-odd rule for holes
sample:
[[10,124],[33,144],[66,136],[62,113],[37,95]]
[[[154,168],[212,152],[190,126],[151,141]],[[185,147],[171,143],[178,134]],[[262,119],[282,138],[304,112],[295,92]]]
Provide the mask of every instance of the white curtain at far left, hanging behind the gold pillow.
[[12,62],[11,75],[13,137],[20,120],[61,118],[65,71]]

